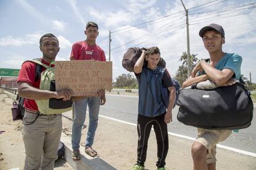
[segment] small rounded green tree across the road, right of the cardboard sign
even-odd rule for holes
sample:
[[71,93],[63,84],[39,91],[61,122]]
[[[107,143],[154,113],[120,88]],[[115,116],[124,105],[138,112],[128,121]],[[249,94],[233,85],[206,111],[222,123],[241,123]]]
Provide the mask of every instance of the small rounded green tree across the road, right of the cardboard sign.
[[137,86],[137,79],[134,78],[133,75],[130,73],[122,74],[116,78],[116,83],[114,84],[114,87],[119,88],[135,88]]

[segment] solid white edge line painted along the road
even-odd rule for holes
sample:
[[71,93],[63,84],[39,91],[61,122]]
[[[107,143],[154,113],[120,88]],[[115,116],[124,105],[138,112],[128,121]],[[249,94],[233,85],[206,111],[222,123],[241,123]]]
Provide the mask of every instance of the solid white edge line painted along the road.
[[[113,121],[117,121],[117,122],[124,123],[124,124],[129,124],[129,125],[137,127],[137,124],[135,124],[135,123],[129,123],[127,121],[122,121],[122,120],[119,120],[119,119],[110,118],[108,116],[103,116],[103,115],[99,115],[99,116],[102,117],[102,118],[111,119]],[[168,132],[168,134],[171,135],[171,136],[181,137],[181,138],[184,138],[184,139],[195,140],[194,137],[184,136],[184,135],[180,135],[180,134],[174,134],[173,132]],[[245,150],[240,150],[240,149],[237,149],[237,148],[226,147],[226,146],[220,145],[220,144],[217,144],[217,147],[224,148],[226,150],[231,150],[231,151],[237,152],[237,153],[242,153],[244,155],[249,155],[249,156],[256,157],[256,153],[253,153],[253,152],[247,152]]]

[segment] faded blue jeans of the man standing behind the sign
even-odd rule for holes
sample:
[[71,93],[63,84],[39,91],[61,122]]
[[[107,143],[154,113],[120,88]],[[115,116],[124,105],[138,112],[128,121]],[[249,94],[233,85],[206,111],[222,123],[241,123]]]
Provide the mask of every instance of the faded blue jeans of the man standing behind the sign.
[[87,139],[85,148],[92,147],[95,136],[95,131],[98,126],[98,115],[100,111],[100,97],[88,97],[79,101],[73,102],[74,120],[72,125],[72,148],[79,149],[81,140],[81,131],[83,123],[85,122],[85,115],[89,108],[89,127],[87,132]]

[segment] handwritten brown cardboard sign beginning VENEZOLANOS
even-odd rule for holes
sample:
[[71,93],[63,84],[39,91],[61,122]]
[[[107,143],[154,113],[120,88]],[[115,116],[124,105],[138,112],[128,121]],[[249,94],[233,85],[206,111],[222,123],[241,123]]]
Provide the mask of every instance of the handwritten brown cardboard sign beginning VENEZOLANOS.
[[110,90],[112,62],[72,60],[55,62],[56,91],[72,89],[74,96],[96,95],[100,89]]

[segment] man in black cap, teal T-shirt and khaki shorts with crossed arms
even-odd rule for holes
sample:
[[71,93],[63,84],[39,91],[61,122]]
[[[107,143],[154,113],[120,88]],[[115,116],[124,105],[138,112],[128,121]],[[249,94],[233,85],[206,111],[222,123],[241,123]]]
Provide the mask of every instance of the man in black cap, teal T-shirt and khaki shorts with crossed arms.
[[[191,76],[182,87],[187,87],[207,79],[211,79],[217,86],[231,86],[234,79],[241,77],[242,57],[237,54],[228,54],[222,51],[225,43],[223,27],[211,23],[199,31],[207,49],[210,60],[202,60],[192,70]],[[194,169],[216,169],[216,144],[226,140],[231,130],[211,130],[198,128],[198,137],[192,144],[191,153]]]

